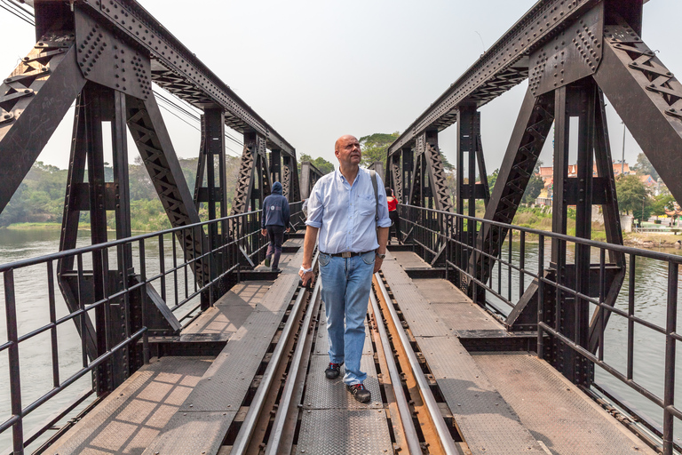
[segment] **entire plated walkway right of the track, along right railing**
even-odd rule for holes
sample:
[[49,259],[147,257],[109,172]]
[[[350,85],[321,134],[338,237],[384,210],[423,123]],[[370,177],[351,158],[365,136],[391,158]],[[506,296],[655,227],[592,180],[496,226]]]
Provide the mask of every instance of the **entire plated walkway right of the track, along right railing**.
[[496,350],[519,342],[452,283],[408,275],[429,268],[395,251],[382,271],[472,454],[655,453],[535,353]]

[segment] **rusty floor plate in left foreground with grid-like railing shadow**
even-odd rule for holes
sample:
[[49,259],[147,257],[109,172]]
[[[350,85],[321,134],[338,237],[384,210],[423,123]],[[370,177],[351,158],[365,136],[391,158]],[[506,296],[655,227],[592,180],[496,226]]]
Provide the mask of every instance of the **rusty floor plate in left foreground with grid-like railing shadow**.
[[45,453],[142,453],[178,411],[211,361],[210,357],[163,357],[148,364]]

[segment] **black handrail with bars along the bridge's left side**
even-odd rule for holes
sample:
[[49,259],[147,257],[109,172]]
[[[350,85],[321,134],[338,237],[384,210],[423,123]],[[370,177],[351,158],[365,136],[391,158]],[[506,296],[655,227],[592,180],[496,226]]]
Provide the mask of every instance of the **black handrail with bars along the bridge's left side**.
[[[289,204],[291,212],[292,225],[297,228],[300,226],[302,218],[301,213],[301,202],[295,202]],[[218,220],[202,221],[200,223],[194,223],[192,225],[187,225],[179,228],[164,229],[163,231],[158,231],[154,233],[146,233],[142,235],[134,235],[128,238],[117,239],[107,243],[97,243],[89,246],[83,246],[79,248],[74,248],[67,251],[59,251],[44,256],[21,259],[13,261],[11,263],[0,265],[0,275],[3,275],[4,279],[4,296],[0,296],[0,299],[4,297],[4,306],[7,311],[7,339],[0,340],[0,353],[6,355],[7,360],[5,365],[9,364],[8,370],[11,371],[11,386],[10,396],[12,401],[12,411],[10,414],[5,414],[0,416],[0,434],[4,433],[8,428],[12,427],[13,435],[13,451],[16,453],[21,453],[24,447],[36,439],[37,435],[41,435],[45,432],[48,427],[42,428],[32,428],[28,438],[24,435],[23,431],[23,418],[27,416],[30,412],[35,411],[38,407],[47,403],[53,396],[60,394],[67,387],[72,385],[77,379],[83,378],[88,373],[94,373],[98,371],[98,367],[103,364],[110,362],[113,359],[113,355],[121,351],[123,348],[131,348],[139,346],[138,340],[141,339],[141,349],[142,349],[142,360],[147,363],[149,358],[149,327],[147,325],[148,315],[146,305],[140,304],[141,307],[141,319],[139,320],[139,325],[136,323],[134,330],[132,327],[126,327],[123,333],[118,333],[116,339],[112,339],[111,332],[115,331],[114,325],[109,323],[103,323],[103,321],[108,321],[111,318],[111,307],[113,303],[120,303],[121,307],[127,308],[131,305],[131,299],[135,296],[140,297],[142,294],[147,293],[148,286],[161,287],[161,297],[166,304],[166,307],[171,312],[178,310],[180,307],[184,307],[188,302],[194,301],[198,296],[202,295],[202,303],[196,305],[195,307],[190,307],[186,315],[182,316],[179,321],[184,321],[187,316],[193,315],[199,307],[203,305],[204,298],[208,296],[209,305],[213,304],[213,301],[217,299],[214,296],[215,290],[217,288],[216,284],[220,280],[223,280],[227,275],[234,275],[238,280],[239,268],[241,267],[240,258],[242,254],[249,256],[251,259],[258,258],[256,262],[260,262],[265,256],[265,237],[260,235],[260,215],[261,211],[252,211],[237,215],[231,215]],[[205,249],[202,251],[195,251],[192,258],[188,258],[183,255],[181,259],[178,260],[178,254],[181,254],[182,249],[176,248],[176,243],[180,242],[178,235],[176,233],[181,232],[183,229],[204,229],[210,227],[210,225],[218,226],[229,226],[228,231],[223,232],[222,244],[209,245],[211,249]],[[164,242],[163,237],[166,235],[171,235],[171,242]],[[152,248],[147,248],[146,243],[150,241],[158,241],[158,249],[155,245]],[[109,267],[103,267],[104,278],[97,278],[92,275],[92,272],[85,270],[83,266],[83,258],[89,253],[99,253],[101,260],[107,260],[109,254],[117,251],[120,248],[131,248],[131,251],[137,252],[138,257],[132,259],[123,259],[123,264],[118,264],[117,267],[109,270]],[[238,251],[239,247],[241,251]],[[232,250],[231,250],[232,249]],[[158,254],[158,258],[148,259],[147,250],[155,251]],[[172,254],[172,264],[171,267],[166,268],[165,263],[168,262],[168,255]],[[217,264],[218,258],[222,255],[224,262]],[[113,257],[113,254],[112,254]],[[209,259],[209,269],[206,275],[200,269],[193,267],[195,261],[200,259]],[[59,264],[65,259],[70,259],[75,265],[73,270],[71,269],[61,269],[60,267],[54,267],[55,261]],[[93,257],[94,260],[94,257]],[[159,271],[147,276],[147,266],[151,262],[158,261]],[[42,267],[45,267],[42,269]],[[129,282],[128,279],[135,275],[132,275],[132,270],[138,268],[138,278],[135,283]],[[217,267],[222,266],[222,267]],[[22,269],[28,269],[29,267],[39,267],[38,271],[40,279],[44,280],[44,273],[47,272],[47,295],[45,297],[46,306],[49,307],[50,318],[46,323],[41,324],[38,327],[30,328],[26,333],[19,332],[19,321],[17,314],[17,308],[20,307],[20,294],[15,295],[15,287],[25,287],[27,283],[22,283],[17,281],[15,275],[21,273]],[[212,267],[212,268],[211,268]],[[189,269],[189,271],[188,271]],[[89,273],[90,277],[88,280],[96,281],[97,279],[102,279],[103,282],[107,282],[107,275],[109,272],[120,272],[125,270],[126,279],[120,280],[118,287],[114,287],[111,284],[107,284],[105,287],[104,295],[100,295],[99,299],[91,297],[90,300],[85,301],[78,299],[78,295],[83,291],[83,284],[85,284],[86,273]],[[200,281],[200,276],[195,275],[195,272],[199,272],[199,275],[205,275],[207,279]],[[183,274],[184,272],[184,274]],[[33,273],[33,272],[30,272]],[[54,279],[54,275],[57,275],[62,281],[59,282],[60,287],[64,287],[67,282],[64,280],[72,279],[75,282],[75,291],[77,294],[73,296],[73,301],[71,307],[69,307],[67,297],[65,296],[65,302],[67,303],[68,312],[66,315],[57,316],[55,308],[58,305],[58,300],[55,299],[58,292],[55,291],[55,285],[57,280]],[[184,275],[184,276],[183,276]],[[166,278],[169,278],[166,280]],[[194,283],[191,283],[194,281]],[[166,299],[166,285],[172,286],[171,294],[169,298]],[[184,289],[181,287],[184,284]],[[36,286],[36,283],[30,283],[31,286]],[[90,284],[91,286],[93,284]],[[85,284],[87,286],[87,284]],[[64,291],[64,290],[62,290]],[[206,294],[206,295],[204,295]],[[18,298],[19,297],[19,298]],[[141,297],[143,298],[143,297]],[[175,299],[173,305],[171,305],[172,299]],[[45,308],[46,310],[48,308]],[[97,314],[97,317],[92,317],[93,314]],[[127,316],[132,319],[131,315]],[[75,323],[76,329],[81,335],[81,350],[83,356],[82,368],[67,379],[59,378],[59,349],[57,349],[57,330],[62,324],[73,321]],[[95,331],[93,331],[93,325],[97,323],[97,330],[103,330],[103,337],[93,336]],[[90,327],[89,327],[90,324]],[[119,330],[120,332],[120,330]],[[45,391],[40,395],[33,403],[24,405],[21,403],[21,380],[20,380],[20,365],[22,359],[20,357],[20,346],[26,346],[28,343],[33,342],[41,334],[46,334],[50,336],[50,343],[52,346],[52,388]],[[101,346],[101,343],[104,346]],[[89,346],[89,344],[91,346]],[[93,350],[94,346],[97,346],[96,350]],[[6,368],[3,367],[3,368]],[[91,388],[88,393],[92,393],[95,389]],[[98,388],[98,395],[106,393],[104,389]],[[77,397],[75,398],[78,399]],[[63,418],[64,416],[61,416]],[[55,422],[49,422],[49,427],[52,427]]]

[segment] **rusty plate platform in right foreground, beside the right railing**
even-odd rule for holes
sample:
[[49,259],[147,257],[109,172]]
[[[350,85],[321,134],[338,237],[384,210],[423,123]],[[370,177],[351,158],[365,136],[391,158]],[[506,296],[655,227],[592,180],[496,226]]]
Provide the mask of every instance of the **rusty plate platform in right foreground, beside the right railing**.
[[534,355],[481,354],[472,359],[551,453],[655,453]]

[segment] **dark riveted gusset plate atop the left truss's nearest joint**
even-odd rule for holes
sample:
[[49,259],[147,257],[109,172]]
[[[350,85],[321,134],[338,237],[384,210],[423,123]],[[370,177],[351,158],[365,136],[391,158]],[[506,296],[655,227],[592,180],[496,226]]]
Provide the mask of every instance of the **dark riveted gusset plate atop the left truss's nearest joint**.
[[75,9],[75,47],[78,67],[89,81],[147,100],[152,94],[148,55]]

